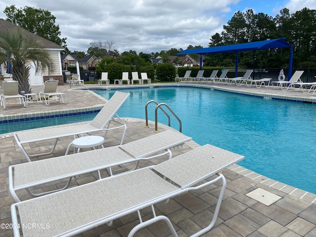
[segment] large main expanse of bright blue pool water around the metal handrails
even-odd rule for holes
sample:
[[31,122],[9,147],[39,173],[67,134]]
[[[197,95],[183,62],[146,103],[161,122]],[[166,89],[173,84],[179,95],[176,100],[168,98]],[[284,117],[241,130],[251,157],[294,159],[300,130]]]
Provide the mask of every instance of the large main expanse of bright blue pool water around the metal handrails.
[[[116,90],[93,90],[111,98]],[[244,155],[238,164],[271,179],[316,194],[316,106],[196,87],[123,89],[131,93],[120,117],[145,118],[149,100],[166,103],[182,121],[182,132],[206,143]],[[148,107],[155,120],[155,107]],[[158,122],[167,123],[158,114]],[[179,123],[171,118],[171,126]]]

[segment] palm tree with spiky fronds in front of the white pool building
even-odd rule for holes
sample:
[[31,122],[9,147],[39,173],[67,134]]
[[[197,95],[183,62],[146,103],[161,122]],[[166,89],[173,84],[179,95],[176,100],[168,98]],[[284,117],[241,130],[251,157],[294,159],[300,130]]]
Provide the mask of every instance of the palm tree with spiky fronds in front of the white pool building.
[[19,93],[31,91],[29,76],[32,62],[37,73],[45,70],[49,75],[55,70],[48,50],[21,29],[0,32],[0,64],[6,62],[12,65],[12,78],[19,82]]

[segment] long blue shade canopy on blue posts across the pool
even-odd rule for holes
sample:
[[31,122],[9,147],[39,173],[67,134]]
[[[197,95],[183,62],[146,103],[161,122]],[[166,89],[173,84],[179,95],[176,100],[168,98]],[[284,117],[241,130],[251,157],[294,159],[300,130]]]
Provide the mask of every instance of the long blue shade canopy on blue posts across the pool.
[[[239,43],[223,46],[215,46],[208,48],[194,48],[183,50],[176,55],[181,54],[213,54],[213,53],[236,53],[236,74],[238,69],[238,52],[240,51],[250,51],[250,50],[261,50],[269,48],[291,48],[290,51],[290,60],[288,67],[288,79],[292,77],[292,62],[293,62],[293,47],[285,41],[285,38],[275,39],[275,40],[263,40],[249,43]],[[200,61],[202,56],[200,57]],[[202,68],[202,63],[200,62],[200,69]]]

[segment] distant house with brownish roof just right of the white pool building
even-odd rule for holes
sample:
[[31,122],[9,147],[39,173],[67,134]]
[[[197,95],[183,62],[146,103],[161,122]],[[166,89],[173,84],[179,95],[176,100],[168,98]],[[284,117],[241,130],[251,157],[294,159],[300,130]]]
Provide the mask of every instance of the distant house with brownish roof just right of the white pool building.
[[98,63],[96,56],[85,56],[84,58],[77,58],[76,54],[64,54],[61,56],[62,69],[67,70],[67,67],[73,66],[76,67],[76,63],[79,63],[79,66],[83,70],[89,70],[91,67],[95,67]]

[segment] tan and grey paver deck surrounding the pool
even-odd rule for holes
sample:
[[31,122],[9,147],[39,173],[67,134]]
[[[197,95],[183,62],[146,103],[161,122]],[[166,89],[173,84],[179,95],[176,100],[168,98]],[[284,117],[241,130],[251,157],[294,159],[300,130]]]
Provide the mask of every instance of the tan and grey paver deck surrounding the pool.
[[[154,85],[166,86],[169,83],[155,83]],[[175,83],[171,83],[175,85]],[[256,88],[245,85],[222,85],[208,83],[176,83],[180,86],[194,85],[210,87],[218,90],[226,90],[235,93],[243,93],[252,96],[262,96],[265,98],[276,98],[291,101],[304,101],[305,103],[316,103],[316,94],[312,92],[303,93],[302,91],[280,90],[271,87]],[[86,85],[91,87],[120,88],[125,85]],[[128,87],[147,86],[129,85]],[[72,86],[79,88],[79,86]],[[42,86],[33,87],[34,92],[38,93],[43,89]],[[19,104],[8,104],[7,109],[0,108],[0,119],[20,119],[37,116],[56,115],[58,113],[77,113],[82,111],[97,110],[102,108],[105,100],[87,90],[70,90],[69,85],[58,86],[60,92],[67,93],[67,104],[52,101],[50,106],[45,104],[36,104],[29,102],[27,108]],[[1,89],[0,89],[1,92]],[[145,121],[138,118],[123,118],[127,124],[127,132],[124,143],[147,137],[154,134],[154,122],[150,122],[150,127],[145,128]],[[1,124],[0,124],[1,125]],[[159,130],[168,128],[159,124]],[[100,134],[101,135],[101,134]],[[119,138],[117,134],[110,132],[105,146],[118,145]],[[63,138],[58,142],[56,151],[43,158],[57,157],[65,153],[71,140]],[[49,142],[42,144],[41,149]],[[38,144],[40,146],[40,144]],[[187,152],[198,147],[194,141],[187,142],[183,147],[172,149],[174,156]],[[242,155],[242,154],[240,154]],[[38,158],[34,158],[36,160]],[[162,158],[166,159],[166,158]],[[160,162],[153,160],[152,162]],[[16,146],[11,133],[0,135],[0,223],[11,223],[10,205],[14,202],[8,190],[8,166],[26,162],[22,152]],[[152,164],[152,162],[142,163],[143,166]],[[277,170],[276,170],[277,172]],[[227,179],[227,188],[224,200],[221,205],[219,216],[215,227],[203,235],[203,237],[315,237],[316,236],[316,195],[303,190],[290,187],[286,184],[276,182],[268,177],[254,173],[239,165],[233,165],[223,171]],[[304,175],[304,174],[302,174]],[[82,185],[95,181],[96,174],[91,173],[82,175],[72,181],[72,186]],[[62,182],[55,182],[50,185],[39,187],[41,190],[51,190],[58,187]],[[208,220],[214,211],[219,189],[221,184],[212,185],[200,192],[190,192],[183,196],[173,198],[169,203],[158,203],[155,205],[158,214],[166,215],[173,223],[179,237],[187,237],[199,231],[201,227],[208,224]],[[281,199],[267,206],[256,201],[245,194],[261,188],[270,193],[278,195]],[[23,200],[30,198],[27,192],[18,193]],[[148,209],[142,211],[144,219],[152,216]],[[90,231],[86,231],[77,237],[125,237],[128,232],[138,224],[137,214],[119,218],[114,221],[112,226],[102,225]],[[0,237],[13,236],[12,230],[0,229]],[[171,233],[164,223],[158,222],[147,228],[140,230],[137,237],[169,237]]]

